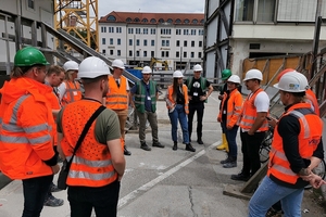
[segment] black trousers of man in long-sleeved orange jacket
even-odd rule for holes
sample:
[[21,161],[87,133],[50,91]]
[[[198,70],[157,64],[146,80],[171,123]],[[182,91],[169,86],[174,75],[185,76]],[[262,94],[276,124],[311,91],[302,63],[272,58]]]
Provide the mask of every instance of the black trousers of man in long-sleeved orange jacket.
[[23,217],[39,217],[43,208],[53,175],[23,180]]

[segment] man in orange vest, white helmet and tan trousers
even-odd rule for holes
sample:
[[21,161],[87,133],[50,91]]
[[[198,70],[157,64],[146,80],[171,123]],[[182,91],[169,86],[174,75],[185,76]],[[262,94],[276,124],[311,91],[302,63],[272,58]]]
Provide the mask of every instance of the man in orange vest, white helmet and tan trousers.
[[129,152],[125,145],[125,126],[128,117],[129,104],[129,84],[128,80],[122,76],[125,66],[121,60],[114,60],[112,62],[112,67],[113,71],[111,72],[112,75],[109,75],[109,91],[104,98],[104,105],[117,114],[124,154],[131,155],[131,152]]

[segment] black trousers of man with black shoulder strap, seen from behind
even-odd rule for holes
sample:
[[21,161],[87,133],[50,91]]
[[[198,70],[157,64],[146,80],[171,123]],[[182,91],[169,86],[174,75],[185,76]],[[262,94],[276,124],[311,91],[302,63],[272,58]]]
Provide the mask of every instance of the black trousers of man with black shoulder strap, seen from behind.
[[90,217],[92,208],[97,217],[116,216],[120,181],[104,187],[68,187],[71,217]]

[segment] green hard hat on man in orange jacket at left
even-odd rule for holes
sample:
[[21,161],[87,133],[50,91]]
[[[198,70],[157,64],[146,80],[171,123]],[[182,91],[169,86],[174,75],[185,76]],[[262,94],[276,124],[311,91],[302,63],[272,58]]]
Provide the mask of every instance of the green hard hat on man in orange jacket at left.
[[17,51],[14,66],[49,65],[46,56],[34,47],[26,47]]

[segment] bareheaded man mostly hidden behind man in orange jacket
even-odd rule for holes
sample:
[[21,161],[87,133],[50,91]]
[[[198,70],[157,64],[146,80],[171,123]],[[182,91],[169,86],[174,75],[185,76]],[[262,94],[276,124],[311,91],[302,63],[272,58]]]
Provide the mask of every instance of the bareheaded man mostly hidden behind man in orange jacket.
[[[48,99],[48,101],[51,104],[51,110],[52,110],[52,115],[53,115],[54,120],[55,120],[55,116],[57,116],[58,112],[61,110],[61,104],[60,104],[59,95],[57,93],[55,88],[58,88],[62,84],[63,80],[64,80],[64,69],[58,65],[51,65],[48,68],[45,84],[52,88],[52,91],[49,94],[46,94],[46,98]],[[52,129],[53,129],[53,135],[52,135],[53,149],[54,149],[55,154],[58,154],[58,150],[57,150],[58,135],[57,135],[57,124],[55,123],[53,123]],[[52,181],[51,187],[50,187],[48,194],[46,196],[46,200],[45,200],[45,206],[55,207],[55,206],[63,205],[64,201],[62,199],[57,199],[52,194],[52,192],[58,192],[58,191],[61,191],[61,190],[58,189],[58,187]]]

